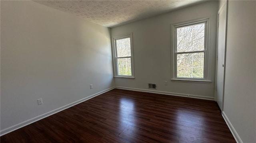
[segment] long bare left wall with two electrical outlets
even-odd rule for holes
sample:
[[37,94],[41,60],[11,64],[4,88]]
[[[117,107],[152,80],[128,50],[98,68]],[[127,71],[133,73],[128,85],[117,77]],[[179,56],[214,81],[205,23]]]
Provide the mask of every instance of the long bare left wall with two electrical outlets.
[[110,29],[1,0],[1,133],[112,86]]

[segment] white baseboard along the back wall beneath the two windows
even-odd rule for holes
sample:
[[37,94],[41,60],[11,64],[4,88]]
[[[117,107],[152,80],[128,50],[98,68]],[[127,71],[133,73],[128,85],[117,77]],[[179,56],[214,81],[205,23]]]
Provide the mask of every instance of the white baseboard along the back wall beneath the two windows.
[[159,91],[159,90],[149,90],[149,89],[140,89],[140,88],[129,88],[129,87],[122,87],[122,86],[116,86],[115,88],[117,88],[117,89],[124,89],[124,90],[132,90],[132,91],[140,91],[140,92],[148,92],[148,93],[156,93],[156,94],[164,94],[164,95],[172,95],[172,96],[182,96],[182,97],[189,97],[189,98],[213,100],[214,101],[214,97],[201,96],[201,95],[174,93],[174,92],[166,92],[166,91]]

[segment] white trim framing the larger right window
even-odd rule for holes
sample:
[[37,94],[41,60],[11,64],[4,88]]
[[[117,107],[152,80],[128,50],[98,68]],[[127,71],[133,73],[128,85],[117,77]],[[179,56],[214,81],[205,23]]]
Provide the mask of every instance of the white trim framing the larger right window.
[[[183,26],[188,26],[188,25],[194,25],[194,24],[200,24],[200,23],[205,23],[205,40],[204,40],[204,50],[202,51],[204,53],[204,78],[179,78],[177,77],[177,63],[176,63],[176,58],[177,58],[177,52],[176,52],[176,29],[177,27],[183,27]],[[171,62],[171,68],[172,68],[172,74],[171,74],[171,80],[172,81],[178,81],[178,82],[212,82],[209,78],[208,74],[208,47],[209,47],[209,18],[204,18],[204,19],[198,19],[198,20],[189,20],[186,22],[180,22],[176,24],[171,24],[171,56],[172,56],[172,62]],[[185,52],[187,53],[187,52]],[[189,52],[193,53],[193,52]],[[196,51],[195,53],[198,53]]]

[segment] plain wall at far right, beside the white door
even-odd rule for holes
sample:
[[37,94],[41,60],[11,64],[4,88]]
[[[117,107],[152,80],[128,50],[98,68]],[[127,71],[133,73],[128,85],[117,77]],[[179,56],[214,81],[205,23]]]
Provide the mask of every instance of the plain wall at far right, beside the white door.
[[228,1],[224,114],[238,142],[256,143],[256,1]]

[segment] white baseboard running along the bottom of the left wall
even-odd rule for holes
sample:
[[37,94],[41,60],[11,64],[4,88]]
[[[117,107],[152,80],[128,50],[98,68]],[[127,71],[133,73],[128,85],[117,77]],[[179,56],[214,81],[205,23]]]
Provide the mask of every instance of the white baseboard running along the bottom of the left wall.
[[96,94],[92,94],[92,95],[90,95],[90,96],[88,96],[88,97],[86,97],[86,98],[82,98],[82,99],[80,99],[80,100],[77,100],[77,101],[75,101],[75,102],[72,102],[72,103],[70,103],[70,104],[67,104],[67,105],[65,105],[65,106],[62,106],[62,107],[60,107],[60,108],[57,108],[57,109],[52,110],[52,111],[50,111],[50,112],[47,112],[47,113],[45,113],[45,114],[42,114],[42,115],[36,116],[36,117],[34,117],[34,118],[28,119],[28,120],[26,120],[26,121],[23,121],[23,122],[21,122],[21,123],[18,123],[18,124],[16,124],[16,125],[13,125],[13,126],[11,126],[11,127],[8,127],[8,128],[6,128],[6,129],[2,129],[2,130],[0,131],[0,136],[5,135],[5,134],[7,134],[7,133],[10,133],[10,132],[12,132],[12,131],[15,131],[15,130],[17,130],[17,129],[20,129],[20,128],[22,128],[22,127],[24,127],[24,126],[26,126],[26,125],[29,125],[29,124],[31,124],[31,123],[34,123],[34,122],[36,122],[36,121],[38,121],[38,120],[40,120],[40,119],[44,119],[44,118],[46,118],[46,117],[48,117],[48,116],[51,116],[51,115],[53,115],[53,114],[56,114],[56,113],[58,113],[58,112],[60,112],[60,111],[62,111],[62,110],[65,110],[65,109],[67,109],[67,108],[70,108],[70,107],[72,107],[72,106],[75,106],[76,104],[79,104],[79,103],[82,103],[82,102],[84,102],[84,101],[86,101],[86,100],[89,100],[89,99],[91,99],[91,98],[94,98],[94,97],[96,97],[96,96],[98,96],[98,95],[100,95],[100,94],[103,94],[103,93],[105,93],[105,92],[108,92],[108,91],[110,91],[110,90],[112,90],[112,89],[114,89],[114,88],[115,88],[115,87],[108,88],[108,89],[106,89],[106,90],[100,91],[100,92],[98,92],[98,93],[96,93]]

